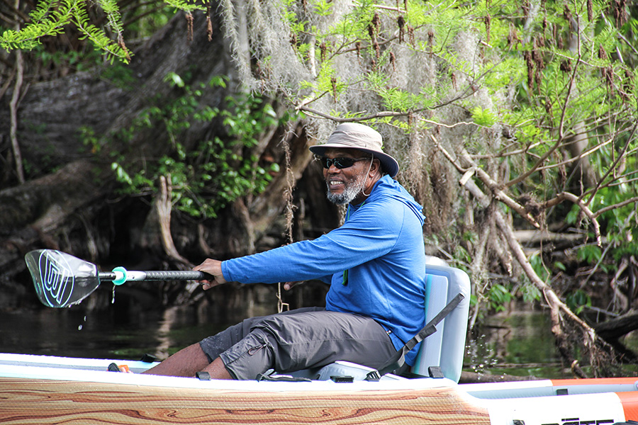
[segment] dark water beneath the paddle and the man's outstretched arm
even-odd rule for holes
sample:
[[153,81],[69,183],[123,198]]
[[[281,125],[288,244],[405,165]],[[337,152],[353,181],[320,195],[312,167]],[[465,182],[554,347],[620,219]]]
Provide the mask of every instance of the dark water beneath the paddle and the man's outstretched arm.
[[[0,312],[0,351],[50,356],[138,360],[149,353],[159,358],[245,317],[276,312],[272,285],[223,285],[195,306],[155,308],[155,298],[138,286],[103,285],[81,305]],[[325,297],[325,285],[308,285],[305,295]],[[148,301],[148,300],[150,301]],[[303,306],[301,300],[296,304]],[[95,306],[101,308],[94,310]]]

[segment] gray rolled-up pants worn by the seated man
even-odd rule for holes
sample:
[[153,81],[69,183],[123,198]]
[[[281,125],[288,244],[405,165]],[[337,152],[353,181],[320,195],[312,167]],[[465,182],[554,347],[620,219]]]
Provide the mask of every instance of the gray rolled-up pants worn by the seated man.
[[208,361],[220,357],[235,379],[351,361],[380,368],[396,353],[385,329],[369,317],[306,307],[251,317],[200,341]]

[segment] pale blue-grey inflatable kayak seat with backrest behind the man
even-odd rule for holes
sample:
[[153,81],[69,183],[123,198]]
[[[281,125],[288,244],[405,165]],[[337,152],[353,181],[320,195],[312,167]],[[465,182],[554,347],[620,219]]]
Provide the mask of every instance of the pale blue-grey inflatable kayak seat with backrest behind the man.
[[[423,340],[419,348],[415,348],[419,353],[410,375],[429,377],[428,369],[438,366],[444,378],[459,382],[469,314],[469,276],[458,268],[442,264],[427,263],[425,271],[425,323],[429,323],[459,293],[464,295],[464,299],[437,324],[437,331]],[[335,376],[352,376],[354,380],[364,380],[371,370],[363,365],[338,361],[323,368],[299,370],[291,375],[314,380],[329,380]],[[401,379],[396,375],[386,376]]]

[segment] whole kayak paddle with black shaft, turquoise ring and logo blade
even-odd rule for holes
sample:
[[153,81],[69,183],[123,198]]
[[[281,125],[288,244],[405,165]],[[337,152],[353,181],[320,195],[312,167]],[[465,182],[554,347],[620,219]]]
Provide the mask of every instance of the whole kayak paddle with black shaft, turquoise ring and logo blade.
[[203,271],[98,271],[97,266],[55,249],[36,249],[24,256],[38,299],[48,307],[69,307],[91,295],[102,282],[121,285],[129,281],[203,280]]

